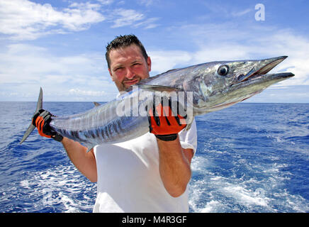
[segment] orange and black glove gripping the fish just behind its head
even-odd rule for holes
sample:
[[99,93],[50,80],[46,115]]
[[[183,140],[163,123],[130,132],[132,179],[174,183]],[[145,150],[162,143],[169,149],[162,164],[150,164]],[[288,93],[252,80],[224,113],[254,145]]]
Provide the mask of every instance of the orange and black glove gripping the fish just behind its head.
[[[172,112],[172,101],[169,99],[168,105],[166,97],[161,97],[161,103],[153,105],[148,113],[150,133],[153,133],[159,140],[176,140],[178,133],[186,127],[186,116],[179,115],[179,102],[177,101],[177,113]],[[174,107],[174,105],[173,105]],[[174,110],[174,109],[173,109]]]

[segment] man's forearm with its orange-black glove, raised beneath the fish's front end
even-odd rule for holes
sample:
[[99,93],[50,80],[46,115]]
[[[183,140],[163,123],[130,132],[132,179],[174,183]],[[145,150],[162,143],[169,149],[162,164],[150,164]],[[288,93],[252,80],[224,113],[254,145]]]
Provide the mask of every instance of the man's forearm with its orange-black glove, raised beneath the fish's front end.
[[[150,124],[150,133],[157,138],[159,148],[159,173],[165,189],[171,196],[177,197],[184,194],[186,186],[191,179],[191,159],[193,157],[192,149],[183,149],[179,141],[178,133],[186,126],[184,119],[178,113],[172,112],[176,104],[179,109],[179,102],[172,103],[172,99],[164,100],[161,97],[159,105],[148,111],[148,121]],[[174,106],[175,107],[175,106]],[[178,112],[178,111],[177,111]]]

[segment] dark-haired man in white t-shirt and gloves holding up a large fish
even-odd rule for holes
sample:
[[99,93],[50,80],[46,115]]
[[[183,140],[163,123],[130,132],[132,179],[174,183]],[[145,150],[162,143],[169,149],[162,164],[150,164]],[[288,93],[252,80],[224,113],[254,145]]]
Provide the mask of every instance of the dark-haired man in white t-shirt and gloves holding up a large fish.
[[[119,92],[149,77],[151,60],[135,35],[120,35],[109,43],[106,60]],[[33,116],[33,124],[40,135],[61,141],[77,169],[97,182],[94,212],[189,211],[186,187],[196,150],[195,121],[184,131],[181,116],[149,116],[150,133],[123,143],[97,145],[86,153],[80,143],[50,130],[50,116],[42,110]]]

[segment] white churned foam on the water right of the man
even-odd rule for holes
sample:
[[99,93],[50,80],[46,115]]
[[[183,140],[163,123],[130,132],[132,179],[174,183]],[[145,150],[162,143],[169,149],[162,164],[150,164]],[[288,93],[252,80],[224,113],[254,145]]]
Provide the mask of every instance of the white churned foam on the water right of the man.
[[212,166],[206,157],[194,159],[191,170],[193,176],[198,177],[191,179],[189,184],[191,212],[309,211],[307,199],[291,194],[285,188],[286,182],[291,179],[291,173],[286,171],[287,164],[255,166],[242,163],[252,168],[250,176],[237,177],[234,174],[225,177],[218,172],[218,166]]

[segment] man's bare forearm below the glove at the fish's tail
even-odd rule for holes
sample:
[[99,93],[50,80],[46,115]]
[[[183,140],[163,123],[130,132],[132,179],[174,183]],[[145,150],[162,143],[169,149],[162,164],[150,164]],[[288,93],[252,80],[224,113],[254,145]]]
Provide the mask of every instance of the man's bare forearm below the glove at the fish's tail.
[[67,150],[69,159],[73,162],[75,167],[82,172],[91,182],[96,182],[96,158],[94,157],[94,150],[86,153],[87,148],[74,140],[64,137],[62,140],[64,149]]

